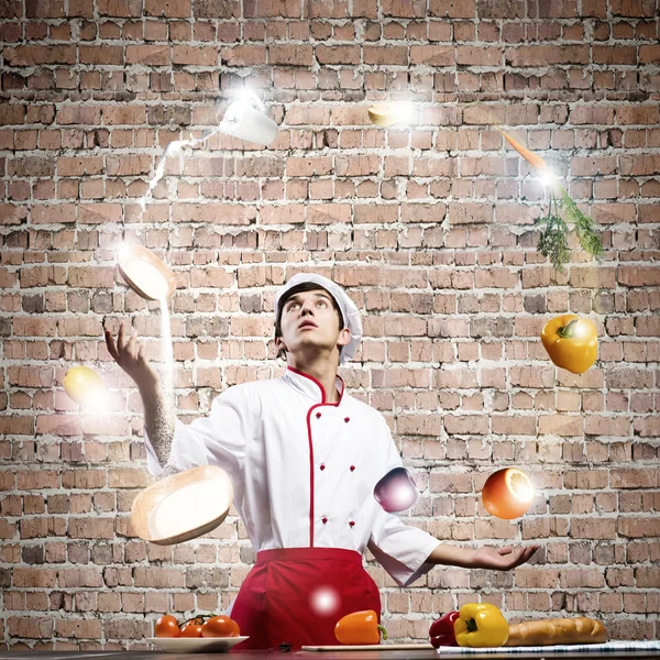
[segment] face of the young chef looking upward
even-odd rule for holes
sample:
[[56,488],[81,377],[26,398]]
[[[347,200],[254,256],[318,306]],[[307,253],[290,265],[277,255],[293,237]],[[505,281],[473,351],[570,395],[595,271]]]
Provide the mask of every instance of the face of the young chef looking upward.
[[284,305],[280,318],[282,337],[276,338],[277,349],[296,353],[331,353],[351,339],[348,328],[340,330],[341,319],[324,289],[299,292]]

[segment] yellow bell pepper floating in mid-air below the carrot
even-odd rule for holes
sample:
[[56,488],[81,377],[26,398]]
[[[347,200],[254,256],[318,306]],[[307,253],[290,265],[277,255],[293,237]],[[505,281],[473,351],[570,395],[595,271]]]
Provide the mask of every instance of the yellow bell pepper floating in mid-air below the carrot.
[[598,331],[588,319],[564,314],[546,323],[541,342],[557,366],[583,374],[596,361]]

